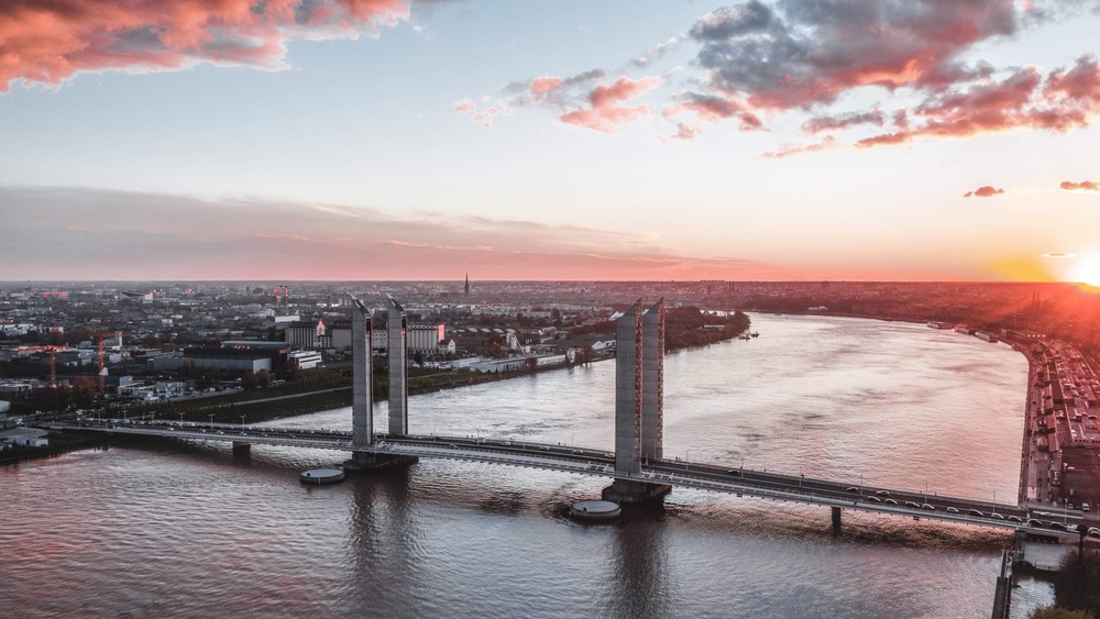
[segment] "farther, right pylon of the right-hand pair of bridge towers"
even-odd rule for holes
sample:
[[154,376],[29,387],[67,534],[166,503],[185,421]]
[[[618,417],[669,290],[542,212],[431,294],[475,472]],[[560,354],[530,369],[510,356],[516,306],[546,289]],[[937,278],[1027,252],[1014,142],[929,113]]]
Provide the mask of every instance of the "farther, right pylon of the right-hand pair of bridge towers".
[[641,318],[641,457],[664,457],[664,299]]

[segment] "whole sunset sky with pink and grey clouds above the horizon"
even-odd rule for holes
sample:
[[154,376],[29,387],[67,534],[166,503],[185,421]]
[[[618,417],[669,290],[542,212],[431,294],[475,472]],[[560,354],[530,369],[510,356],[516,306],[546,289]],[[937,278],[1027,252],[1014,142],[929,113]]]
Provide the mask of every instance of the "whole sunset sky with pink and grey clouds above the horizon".
[[7,0],[0,280],[1100,285],[1100,0]]

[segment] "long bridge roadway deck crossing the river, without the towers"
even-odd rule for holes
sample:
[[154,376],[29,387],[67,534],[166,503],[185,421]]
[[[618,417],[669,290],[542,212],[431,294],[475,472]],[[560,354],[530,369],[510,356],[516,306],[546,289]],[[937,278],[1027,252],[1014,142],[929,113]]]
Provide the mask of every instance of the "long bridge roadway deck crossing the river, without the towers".
[[[170,439],[242,442],[350,452],[351,432],[327,429],[263,428],[228,423],[85,421],[53,424],[59,430],[100,431],[116,434],[166,436]],[[526,466],[614,477],[673,487],[736,494],[765,499],[857,509],[891,516],[927,518],[994,527],[1023,529],[1030,533],[1058,535],[1082,527],[1080,515],[1036,511],[1026,507],[992,504],[959,497],[926,495],[877,486],[849,485],[801,475],[784,475],[750,468],[695,463],[681,460],[645,462],[639,474],[615,472],[615,454],[588,447],[530,443],[469,436],[389,436],[376,434],[364,450],[380,454],[411,455]],[[1098,535],[1100,537],[1100,535]]]

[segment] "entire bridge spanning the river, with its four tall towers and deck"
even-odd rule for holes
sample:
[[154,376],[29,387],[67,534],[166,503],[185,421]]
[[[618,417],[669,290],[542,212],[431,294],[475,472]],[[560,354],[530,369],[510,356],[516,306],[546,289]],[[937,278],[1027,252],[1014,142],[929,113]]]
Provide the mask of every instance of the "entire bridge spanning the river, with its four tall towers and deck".
[[[617,322],[615,451],[482,438],[410,435],[408,433],[405,312],[389,299],[387,332],[389,354],[388,432],[374,431],[371,417],[371,316],[355,299],[353,317],[352,431],[202,424],[86,423],[81,430],[174,439],[311,447],[351,452],[345,469],[373,469],[410,464],[420,457],[459,460],[542,468],[610,478],[605,498],[624,502],[658,498],[672,487],[735,494],[784,502],[832,508],[833,526],[840,526],[843,509],[914,519],[931,519],[981,527],[1057,534],[1080,518],[1059,513],[1032,513],[1026,507],[991,504],[961,497],[931,497],[894,488],[865,487],[802,475],[783,475],[718,463],[685,462],[663,457],[663,330],[664,307],[648,310],[636,302]],[[76,428],[65,425],[64,428]]]

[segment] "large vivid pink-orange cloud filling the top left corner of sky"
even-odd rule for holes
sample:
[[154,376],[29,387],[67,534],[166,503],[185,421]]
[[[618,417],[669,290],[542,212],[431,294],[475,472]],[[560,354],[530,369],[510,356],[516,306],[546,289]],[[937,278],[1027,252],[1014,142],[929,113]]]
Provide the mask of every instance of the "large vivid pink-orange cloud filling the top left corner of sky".
[[0,92],[80,71],[179,69],[198,63],[278,68],[298,36],[375,32],[408,0],[25,0],[0,3]]

